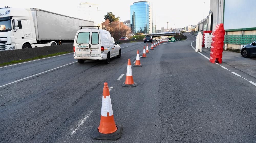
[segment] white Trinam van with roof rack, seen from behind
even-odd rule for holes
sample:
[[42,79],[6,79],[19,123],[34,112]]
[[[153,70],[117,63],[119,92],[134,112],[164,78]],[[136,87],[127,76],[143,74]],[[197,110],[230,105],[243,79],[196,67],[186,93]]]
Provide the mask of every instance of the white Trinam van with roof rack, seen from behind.
[[86,28],[77,31],[74,39],[74,59],[78,63],[84,60],[105,60],[109,64],[110,58],[121,57],[120,42],[115,42],[110,33],[98,28]]

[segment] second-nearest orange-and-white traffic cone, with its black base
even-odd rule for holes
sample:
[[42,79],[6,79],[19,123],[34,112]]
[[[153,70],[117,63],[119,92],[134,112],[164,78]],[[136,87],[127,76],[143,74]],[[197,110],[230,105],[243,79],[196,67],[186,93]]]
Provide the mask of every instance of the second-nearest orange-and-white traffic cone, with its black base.
[[123,87],[135,87],[135,86],[137,86],[137,83],[133,81],[132,65],[131,65],[131,60],[130,59],[128,59],[126,79],[125,79],[125,82],[122,84],[122,86]]

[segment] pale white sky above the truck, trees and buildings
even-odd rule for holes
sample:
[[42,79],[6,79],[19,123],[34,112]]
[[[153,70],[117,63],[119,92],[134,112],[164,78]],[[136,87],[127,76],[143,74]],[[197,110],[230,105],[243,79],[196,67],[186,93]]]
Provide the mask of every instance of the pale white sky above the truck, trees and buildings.
[[[210,0],[149,0],[153,4],[153,23],[156,28],[183,28],[187,25],[196,25],[198,21],[209,15]],[[98,4],[79,5],[80,3]],[[113,12],[121,21],[130,20],[130,5],[134,1],[100,1],[100,0],[12,0],[1,1],[1,7],[39,8],[62,15],[94,21],[98,24],[104,21],[107,12]],[[97,10],[99,7],[99,11]],[[89,15],[90,13],[90,15]]]

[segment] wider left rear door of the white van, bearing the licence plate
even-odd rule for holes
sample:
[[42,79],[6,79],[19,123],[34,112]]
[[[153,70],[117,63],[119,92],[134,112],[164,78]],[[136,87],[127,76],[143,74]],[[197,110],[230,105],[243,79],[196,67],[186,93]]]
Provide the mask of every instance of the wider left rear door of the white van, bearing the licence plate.
[[91,29],[86,32],[79,32],[76,40],[76,55],[77,56],[91,56],[90,44]]

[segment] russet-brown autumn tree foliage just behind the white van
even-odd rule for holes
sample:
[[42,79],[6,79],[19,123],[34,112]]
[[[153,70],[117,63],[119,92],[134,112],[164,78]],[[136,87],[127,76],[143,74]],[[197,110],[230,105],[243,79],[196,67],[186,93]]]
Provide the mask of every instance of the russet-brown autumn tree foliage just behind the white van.
[[[111,36],[115,40],[119,40],[119,21],[113,21],[110,24],[110,20],[106,19],[104,22],[101,23],[102,27],[105,28]],[[131,29],[123,24],[123,22],[120,22],[120,36],[121,37],[129,37],[129,34],[131,32]]]

